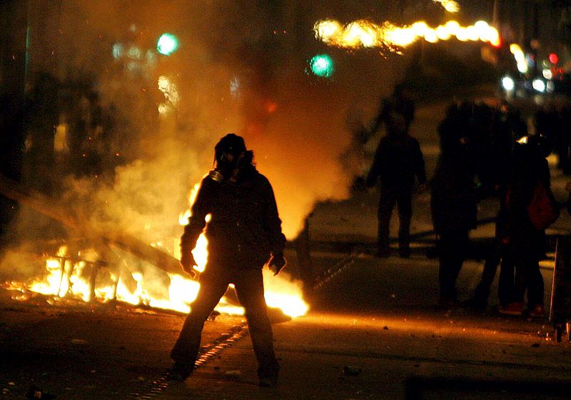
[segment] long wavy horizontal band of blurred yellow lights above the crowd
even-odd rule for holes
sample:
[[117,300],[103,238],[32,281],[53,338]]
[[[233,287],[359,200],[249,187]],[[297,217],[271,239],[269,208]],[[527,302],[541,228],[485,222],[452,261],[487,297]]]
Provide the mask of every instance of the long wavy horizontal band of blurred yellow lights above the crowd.
[[388,21],[383,24],[360,19],[343,26],[338,21],[326,19],[313,26],[315,37],[330,46],[345,49],[383,48],[400,53],[400,49],[413,44],[418,39],[430,43],[449,40],[453,37],[460,41],[483,41],[494,46],[500,44],[497,29],[485,21],[474,25],[460,26],[457,21],[430,28],[424,21],[409,26],[395,26]]

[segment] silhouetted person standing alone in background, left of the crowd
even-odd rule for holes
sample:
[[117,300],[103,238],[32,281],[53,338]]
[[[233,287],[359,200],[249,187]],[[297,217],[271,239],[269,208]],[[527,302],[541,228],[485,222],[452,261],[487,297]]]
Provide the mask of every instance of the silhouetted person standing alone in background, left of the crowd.
[[[394,100],[394,101],[393,101]],[[403,100],[404,101],[404,100]],[[426,183],[425,163],[418,140],[408,134],[413,109],[392,99],[381,111],[386,135],[380,139],[366,185],[373,187],[380,178],[377,256],[389,256],[390,217],[398,207],[398,253],[410,256],[410,219],[415,177]]]

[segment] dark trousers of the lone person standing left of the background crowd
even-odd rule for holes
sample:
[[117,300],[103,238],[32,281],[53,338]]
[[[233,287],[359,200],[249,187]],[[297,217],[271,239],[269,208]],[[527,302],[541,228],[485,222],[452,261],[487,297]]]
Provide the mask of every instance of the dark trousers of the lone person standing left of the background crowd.
[[410,219],[413,216],[412,188],[380,189],[378,208],[377,251],[388,254],[390,217],[395,205],[398,208],[398,251],[400,254],[410,252]]

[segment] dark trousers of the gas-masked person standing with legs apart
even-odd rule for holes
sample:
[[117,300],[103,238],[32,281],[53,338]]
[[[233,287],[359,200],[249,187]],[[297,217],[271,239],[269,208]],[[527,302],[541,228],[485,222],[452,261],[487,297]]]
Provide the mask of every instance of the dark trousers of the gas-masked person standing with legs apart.
[[198,297],[193,302],[191,313],[186,317],[181,334],[171,351],[171,359],[187,365],[194,364],[200,349],[204,322],[231,283],[235,285],[238,300],[246,310],[246,321],[258,361],[258,376],[276,376],[279,366],[273,351],[273,333],[263,296],[261,269],[207,266],[200,277]]

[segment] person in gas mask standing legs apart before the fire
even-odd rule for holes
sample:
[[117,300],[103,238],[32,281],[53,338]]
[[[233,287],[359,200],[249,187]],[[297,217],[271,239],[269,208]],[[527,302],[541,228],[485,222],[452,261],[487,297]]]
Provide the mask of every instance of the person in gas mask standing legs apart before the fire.
[[[192,249],[206,226],[208,264],[200,275],[200,291],[171,351],[171,379],[184,380],[198,356],[203,324],[228,288],[246,310],[261,386],[277,383],[279,365],[264,299],[262,267],[277,275],[285,266],[285,236],[273,189],[253,164],[241,136],[227,134],[215,147],[215,169],[202,182],[181,237],[181,266],[193,275]],[[206,216],[211,219],[206,224]]]

